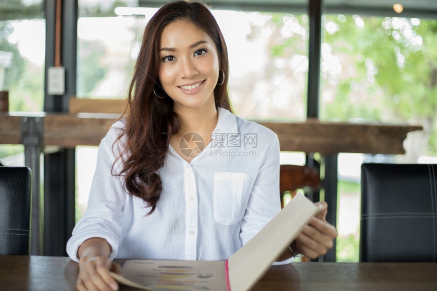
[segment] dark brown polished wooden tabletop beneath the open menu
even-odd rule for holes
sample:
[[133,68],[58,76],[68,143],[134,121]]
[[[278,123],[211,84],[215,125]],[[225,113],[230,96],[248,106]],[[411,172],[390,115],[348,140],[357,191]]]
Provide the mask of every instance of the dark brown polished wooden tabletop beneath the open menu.
[[[435,274],[435,263],[292,263],[271,267],[253,290],[437,290]],[[3,291],[75,290],[77,275],[68,257],[0,255]]]

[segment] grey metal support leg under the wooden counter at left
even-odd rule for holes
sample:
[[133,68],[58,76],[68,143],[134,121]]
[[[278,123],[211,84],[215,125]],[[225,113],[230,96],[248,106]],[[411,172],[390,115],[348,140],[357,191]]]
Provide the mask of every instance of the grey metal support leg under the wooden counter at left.
[[30,218],[30,254],[42,255],[42,213],[40,204],[40,153],[43,148],[43,117],[21,118],[21,144],[24,164],[32,170],[32,216]]

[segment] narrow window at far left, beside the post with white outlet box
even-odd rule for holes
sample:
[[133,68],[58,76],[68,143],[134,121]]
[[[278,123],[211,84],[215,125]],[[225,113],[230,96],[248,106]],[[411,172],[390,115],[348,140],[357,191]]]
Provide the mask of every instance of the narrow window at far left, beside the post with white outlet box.
[[[43,1],[8,1],[0,9],[0,91],[9,92],[9,111],[42,111],[45,20]],[[22,145],[0,145],[6,166],[23,166]]]

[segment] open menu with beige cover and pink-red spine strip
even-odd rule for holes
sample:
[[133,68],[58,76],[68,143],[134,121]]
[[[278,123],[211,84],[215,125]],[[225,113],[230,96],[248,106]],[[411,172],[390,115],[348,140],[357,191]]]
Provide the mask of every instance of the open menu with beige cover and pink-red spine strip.
[[226,261],[129,260],[121,284],[144,290],[250,289],[298,236],[319,208],[296,195],[265,227]]

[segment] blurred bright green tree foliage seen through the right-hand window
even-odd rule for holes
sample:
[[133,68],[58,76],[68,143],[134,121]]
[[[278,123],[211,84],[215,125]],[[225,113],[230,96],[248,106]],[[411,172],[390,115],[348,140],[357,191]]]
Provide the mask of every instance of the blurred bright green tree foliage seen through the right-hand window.
[[426,151],[435,154],[437,21],[340,15],[328,16],[325,28],[326,48],[349,73],[338,76],[323,118],[414,120],[425,128]]

